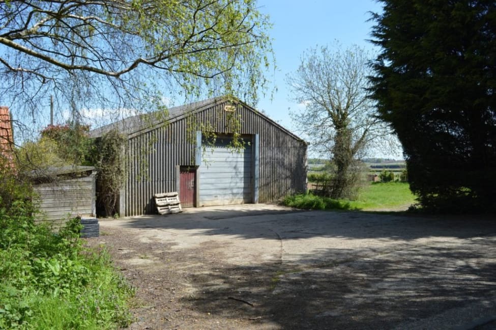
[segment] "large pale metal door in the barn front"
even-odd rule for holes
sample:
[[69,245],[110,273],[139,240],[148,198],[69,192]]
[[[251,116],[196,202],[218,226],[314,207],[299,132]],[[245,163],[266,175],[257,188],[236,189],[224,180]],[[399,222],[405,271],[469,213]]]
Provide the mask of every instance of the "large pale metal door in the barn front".
[[218,137],[213,146],[203,145],[199,168],[200,206],[252,203],[252,148],[236,151],[229,137]]

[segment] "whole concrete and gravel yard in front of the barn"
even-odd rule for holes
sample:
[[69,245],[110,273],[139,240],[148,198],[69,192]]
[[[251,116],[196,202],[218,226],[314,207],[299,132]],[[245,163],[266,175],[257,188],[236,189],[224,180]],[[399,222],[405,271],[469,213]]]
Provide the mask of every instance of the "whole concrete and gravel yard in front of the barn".
[[489,329],[496,221],[275,205],[100,221],[132,329]]

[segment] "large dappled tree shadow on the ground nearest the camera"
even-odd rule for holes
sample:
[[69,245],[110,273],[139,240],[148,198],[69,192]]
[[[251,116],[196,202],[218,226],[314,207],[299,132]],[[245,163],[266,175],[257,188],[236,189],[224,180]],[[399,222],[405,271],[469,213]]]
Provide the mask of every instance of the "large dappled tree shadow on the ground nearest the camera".
[[[415,328],[446,310],[481,301],[494,307],[495,243],[496,237],[451,246],[404,245],[373,257],[329,248],[307,256],[327,260],[322,264],[227,266],[191,274],[198,294],[185,302],[260,328],[266,323],[282,329]],[[456,314],[460,320],[433,318],[425,328],[471,328],[482,315]]]

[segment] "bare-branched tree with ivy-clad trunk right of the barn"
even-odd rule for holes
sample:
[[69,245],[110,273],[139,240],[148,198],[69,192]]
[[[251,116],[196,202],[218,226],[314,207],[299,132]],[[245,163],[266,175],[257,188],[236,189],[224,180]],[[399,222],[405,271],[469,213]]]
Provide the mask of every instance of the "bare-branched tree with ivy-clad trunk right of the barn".
[[376,118],[367,91],[368,62],[367,52],[358,46],[317,47],[303,54],[298,70],[286,79],[291,97],[303,106],[293,113],[293,121],[311,148],[333,164],[327,189],[332,198],[352,197],[359,159],[373,145],[389,141],[390,130]]

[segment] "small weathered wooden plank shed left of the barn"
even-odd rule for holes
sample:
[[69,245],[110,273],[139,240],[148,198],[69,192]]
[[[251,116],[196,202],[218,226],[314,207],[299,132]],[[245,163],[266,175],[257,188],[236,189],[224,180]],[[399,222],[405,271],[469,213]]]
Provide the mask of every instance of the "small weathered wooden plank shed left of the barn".
[[66,166],[31,172],[41,214],[37,221],[60,227],[78,215],[95,216],[96,171],[90,166]]

